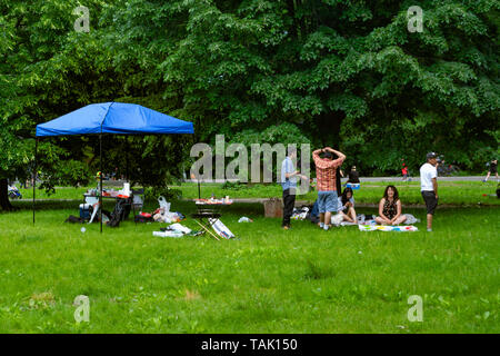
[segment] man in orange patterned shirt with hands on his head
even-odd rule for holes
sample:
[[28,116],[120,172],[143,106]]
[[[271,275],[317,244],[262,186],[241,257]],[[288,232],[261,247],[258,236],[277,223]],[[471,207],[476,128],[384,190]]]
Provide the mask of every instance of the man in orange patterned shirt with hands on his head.
[[[321,152],[324,154],[324,158],[319,156]],[[333,154],[339,158],[333,160]],[[346,155],[330,147],[326,147],[313,151],[312,159],[316,165],[320,227],[328,230],[331,225],[331,212],[337,212],[338,194],[336,170],[342,165]]]

